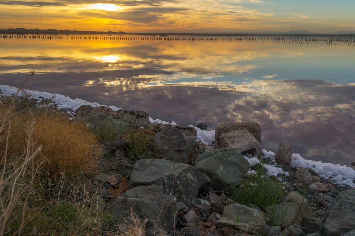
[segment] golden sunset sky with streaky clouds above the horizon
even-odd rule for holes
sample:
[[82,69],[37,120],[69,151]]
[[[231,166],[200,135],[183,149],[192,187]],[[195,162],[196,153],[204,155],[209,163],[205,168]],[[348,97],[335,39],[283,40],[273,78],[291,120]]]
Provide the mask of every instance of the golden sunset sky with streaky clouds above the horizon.
[[0,29],[355,31],[354,0],[0,0]]

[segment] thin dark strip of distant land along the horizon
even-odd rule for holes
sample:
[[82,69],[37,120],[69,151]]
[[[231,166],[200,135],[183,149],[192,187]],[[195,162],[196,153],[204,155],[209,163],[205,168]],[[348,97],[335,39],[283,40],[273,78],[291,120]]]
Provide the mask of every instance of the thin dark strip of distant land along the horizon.
[[175,35],[175,36],[288,36],[288,37],[355,37],[355,34],[224,34],[224,33],[127,33],[123,31],[86,31],[56,29],[0,29],[0,34],[111,34],[111,35]]

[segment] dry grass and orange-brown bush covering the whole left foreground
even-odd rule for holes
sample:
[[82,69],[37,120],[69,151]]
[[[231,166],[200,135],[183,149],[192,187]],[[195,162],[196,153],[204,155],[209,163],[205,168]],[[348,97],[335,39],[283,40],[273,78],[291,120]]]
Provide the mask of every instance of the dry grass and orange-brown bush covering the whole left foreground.
[[82,175],[94,167],[94,134],[26,99],[0,102],[0,235],[117,232]]

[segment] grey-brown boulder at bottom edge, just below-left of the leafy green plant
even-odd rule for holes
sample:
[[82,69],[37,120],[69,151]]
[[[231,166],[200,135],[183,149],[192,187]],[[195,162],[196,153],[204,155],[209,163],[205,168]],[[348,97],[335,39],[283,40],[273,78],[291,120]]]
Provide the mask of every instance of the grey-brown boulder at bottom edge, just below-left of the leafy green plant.
[[218,228],[228,226],[238,228],[252,235],[266,236],[265,220],[257,209],[238,203],[224,207],[222,217],[217,221]]

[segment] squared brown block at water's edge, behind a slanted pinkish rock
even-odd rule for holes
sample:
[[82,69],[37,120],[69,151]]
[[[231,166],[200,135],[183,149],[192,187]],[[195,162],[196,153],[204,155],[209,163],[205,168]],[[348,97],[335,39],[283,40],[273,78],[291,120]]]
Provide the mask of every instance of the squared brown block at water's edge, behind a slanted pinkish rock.
[[223,133],[238,130],[238,129],[246,129],[249,133],[251,133],[259,143],[261,143],[261,129],[260,125],[256,122],[238,122],[238,123],[222,123],[216,128],[216,132],[214,134],[215,144],[219,145],[219,136]]

